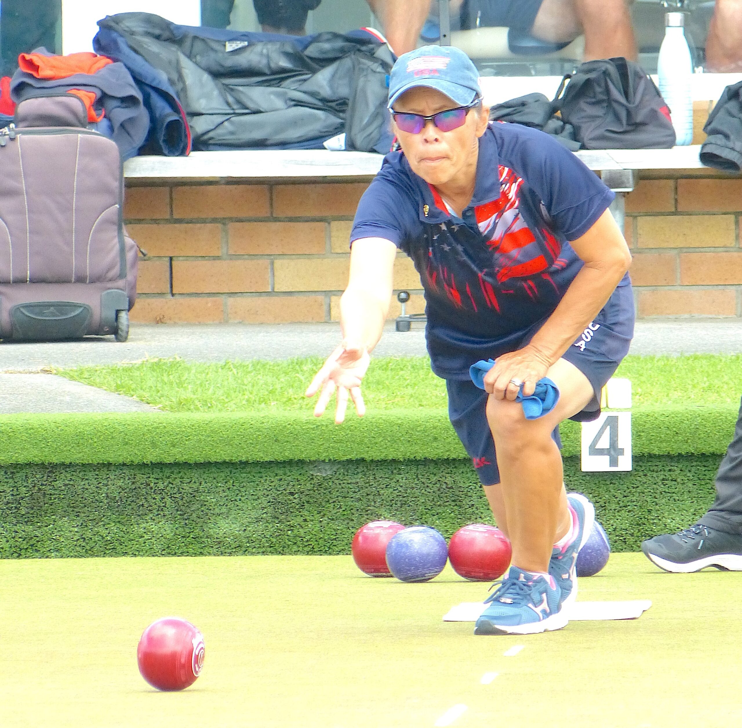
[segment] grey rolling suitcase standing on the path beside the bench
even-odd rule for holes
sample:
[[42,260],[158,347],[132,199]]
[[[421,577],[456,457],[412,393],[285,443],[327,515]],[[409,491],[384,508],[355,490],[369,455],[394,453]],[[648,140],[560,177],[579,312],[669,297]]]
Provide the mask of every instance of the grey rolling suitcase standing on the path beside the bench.
[[65,93],[25,99],[0,130],[0,339],[128,337],[137,246],[111,139]]

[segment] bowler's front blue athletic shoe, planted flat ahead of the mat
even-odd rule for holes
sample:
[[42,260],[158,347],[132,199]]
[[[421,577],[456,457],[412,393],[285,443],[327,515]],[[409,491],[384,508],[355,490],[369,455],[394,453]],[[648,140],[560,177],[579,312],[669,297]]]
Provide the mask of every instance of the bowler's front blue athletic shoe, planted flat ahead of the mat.
[[489,606],[476,621],[475,635],[534,635],[562,629],[567,623],[553,578],[510,566],[508,576],[495,584],[499,589],[485,600]]

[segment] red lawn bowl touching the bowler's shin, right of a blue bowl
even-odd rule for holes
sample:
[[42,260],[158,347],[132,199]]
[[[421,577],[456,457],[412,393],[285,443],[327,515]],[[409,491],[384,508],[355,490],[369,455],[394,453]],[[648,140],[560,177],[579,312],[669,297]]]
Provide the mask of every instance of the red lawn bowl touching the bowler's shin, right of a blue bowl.
[[495,526],[473,523],[459,529],[448,543],[453,570],[471,581],[499,579],[510,566],[510,541]]

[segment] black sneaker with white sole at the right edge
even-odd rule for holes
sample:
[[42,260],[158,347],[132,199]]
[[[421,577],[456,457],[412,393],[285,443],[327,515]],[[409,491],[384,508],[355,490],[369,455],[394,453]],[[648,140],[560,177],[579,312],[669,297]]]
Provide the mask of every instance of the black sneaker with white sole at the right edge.
[[642,542],[644,555],[666,572],[688,574],[706,566],[723,572],[742,572],[742,536],[695,523],[676,534]]

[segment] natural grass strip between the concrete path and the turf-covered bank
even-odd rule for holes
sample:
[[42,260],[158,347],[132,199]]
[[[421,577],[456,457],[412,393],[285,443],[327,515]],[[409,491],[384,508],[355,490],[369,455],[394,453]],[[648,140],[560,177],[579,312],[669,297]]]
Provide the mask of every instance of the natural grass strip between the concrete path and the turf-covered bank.
[[[309,412],[313,405],[303,392],[321,363],[318,357],[221,364],[168,359],[56,373],[172,412]],[[629,356],[616,376],[631,380],[635,408],[738,406],[740,371],[742,355]],[[427,357],[374,358],[364,399],[370,412],[447,404],[445,383],[430,371]]]

